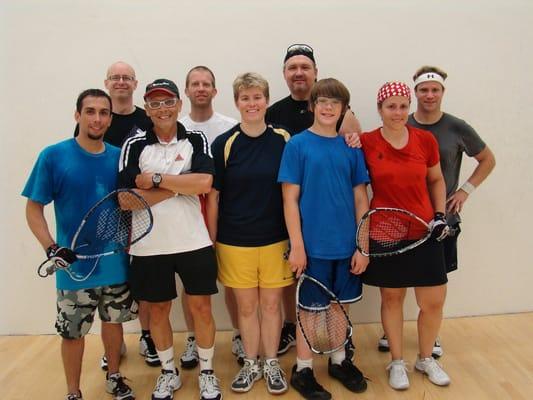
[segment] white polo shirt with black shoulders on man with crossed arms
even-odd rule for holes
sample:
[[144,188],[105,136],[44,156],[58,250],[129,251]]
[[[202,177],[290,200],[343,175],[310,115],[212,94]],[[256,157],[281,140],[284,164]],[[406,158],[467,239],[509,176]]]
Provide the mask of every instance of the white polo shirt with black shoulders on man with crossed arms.
[[[186,131],[178,123],[176,137],[161,142],[149,129],[124,142],[119,161],[119,187],[135,188],[135,177],[142,173],[180,175],[214,174],[207,138],[202,132]],[[151,207],[152,231],[133,244],[129,254],[150,256],[183,253],[212,244],[197,195],[178,194]]]

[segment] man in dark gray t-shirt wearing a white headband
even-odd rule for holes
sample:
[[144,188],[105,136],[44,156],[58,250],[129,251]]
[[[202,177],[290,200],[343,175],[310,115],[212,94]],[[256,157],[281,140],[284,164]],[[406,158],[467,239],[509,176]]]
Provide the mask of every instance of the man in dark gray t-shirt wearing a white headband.
[[[453,235],[443,240],[447,272],[457,269],[457,236],[461,232],[459,212],[472,192],[491,173],[496,165],[494,154],[476,131],[462,119],[441,111],[444,96],[444,81],[448,75],[440,68],[423,66],[413,76],[416,111],[409,115],[408,124],[430,131],[439,142],[440,165],[446,182],[446,213]],[[463,153],[474,157],[478,165],[459,186],[459,174]],[[378,349],[388,351],[386,336],[379,339]],[[433,357],[443,354],[437,339],[433,346]]]

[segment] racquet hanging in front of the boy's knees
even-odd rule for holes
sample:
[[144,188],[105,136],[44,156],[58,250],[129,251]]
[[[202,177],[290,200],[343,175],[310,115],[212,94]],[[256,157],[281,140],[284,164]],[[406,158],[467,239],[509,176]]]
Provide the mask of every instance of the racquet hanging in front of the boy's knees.
[[296,318],[307,345],[316,354],[334,353],[352,337],[352,323],[337,296],[306,274],[296,286]]

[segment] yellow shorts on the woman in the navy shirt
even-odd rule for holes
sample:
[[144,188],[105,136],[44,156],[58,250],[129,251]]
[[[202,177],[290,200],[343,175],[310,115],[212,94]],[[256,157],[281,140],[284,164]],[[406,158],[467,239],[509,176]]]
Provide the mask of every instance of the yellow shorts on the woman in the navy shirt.
[[218,279],[224,286],[249,289],[280,288],[294,282],[283,258],[288,240],[259,247],[230,246],[217,242]]

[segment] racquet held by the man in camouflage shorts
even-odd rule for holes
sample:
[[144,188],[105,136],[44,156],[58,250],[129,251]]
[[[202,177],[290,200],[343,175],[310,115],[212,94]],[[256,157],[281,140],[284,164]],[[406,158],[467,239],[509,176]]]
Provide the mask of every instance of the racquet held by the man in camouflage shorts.
[[48,259],[39,266],[37,273],[44,278],[63,269],[72,279],[85,280],[96,268],[100,257],[127,250],[150,233],[153,222],[150,206],[139,194],[130,189],[115,190],[91,207],[72,237],[70,249],[78,260],[94,259],[92,269],[80,277],[73,273],[72,265],[65,267],[56,262],[43,271],[51,262]]

